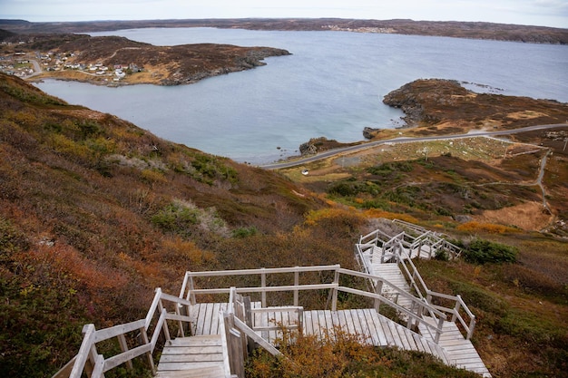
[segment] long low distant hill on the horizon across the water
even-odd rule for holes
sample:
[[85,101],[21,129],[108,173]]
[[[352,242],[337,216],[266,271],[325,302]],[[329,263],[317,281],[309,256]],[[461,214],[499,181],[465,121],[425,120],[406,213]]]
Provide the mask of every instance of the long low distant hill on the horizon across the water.
[[27,23],[0,20],[15,33],[88,33],[144,27],[219,27],[250,30],[345,30],[361,33],[437,35],[457,38],[568,44],[568,29],[517,24],[455,21],[356,20],[343,18],[243,18]]

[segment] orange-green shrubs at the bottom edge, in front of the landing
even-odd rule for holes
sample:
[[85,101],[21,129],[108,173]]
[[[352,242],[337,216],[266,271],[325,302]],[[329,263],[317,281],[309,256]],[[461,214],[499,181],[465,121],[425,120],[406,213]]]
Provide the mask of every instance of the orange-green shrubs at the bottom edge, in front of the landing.
[[429,354],[367,344],[339,327],[322,337],[286,334],[277,340],[281,357],[257,349],[246,364],[249,378],[477,377],[446,366]]

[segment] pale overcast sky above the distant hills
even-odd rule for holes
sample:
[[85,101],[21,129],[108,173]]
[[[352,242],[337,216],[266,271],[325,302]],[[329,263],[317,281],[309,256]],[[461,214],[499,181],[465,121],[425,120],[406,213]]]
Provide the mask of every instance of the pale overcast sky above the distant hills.
[[28,21],[339,17],[488,21],[568,28],[568,0],[0,0]]

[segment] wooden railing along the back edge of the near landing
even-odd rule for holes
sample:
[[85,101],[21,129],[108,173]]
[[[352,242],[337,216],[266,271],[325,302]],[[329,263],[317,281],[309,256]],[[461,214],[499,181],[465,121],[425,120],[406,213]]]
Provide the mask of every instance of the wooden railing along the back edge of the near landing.
[[[299,274],[308,272],[333,272],[333,282],[324,284],[299,284]],[[267,276],[273,274],[293,274],[294,275],[294,285],[290,286],[272,286],[269,285]],[[206,278],[213,276],[260,276],[260,286],[240,286],[234,287],[209,287],[209,288],[197,288],[195,280],[201,278],[206,281]],[[340,279],[341,276],[347,276],[347,282],[354,282],[353,277],[360,277],[366,280],[372,280],[377,282],[372,291],[362,290],[357,287],[341,286]],[[398,305],[398,299],[392,300],[390,297],[383,294],[383,288],[389,286],[391,293],[394,291],[397,298],[405,297],[406,300],[411,304],[410,308]],[[299,292],[306,290],[329,290],[328,301],[331,303],[331,310],[336,311],[338,306],[338,293],[350,293],[357,296],[367,297],[372,299],[375,303],[375,308],[378,313],[380,313],[383,308],[381,305],[387,305],[394,308],[397,313],[406,315],[407,327],[412,327],[413,325],[423,324],[426,325],[426,329],[431,334],[432,338],[439,341],[440,334],[442,333],[442,325],[446,320],[446,315],[436,309],[435,307],[426,303],[426,300],[417,298],[416,296],[407,293],[406,290],[400,288],[393,283],[389,282],[387,279],[381,276],[374,276],[368,273],[357,272],[353,270],[343,269],[338,265],[335,266],[320,266],[320,267],[281,267],[281,268],[260,268],[260,269],[244,269],[244,270],[224,270],[224,271],[210,271],[210,272],[186,272],[181,296],[185,296],[190,303],[197,303],[197,296],[205,295],[216,295],[216,294],[230,294],[231,290],[234,290],[235,294],[253,294],[260,293],[262,307],[266,307],[266,295],[270,292],[292,292],[293,296],[293,306],[299,306]],[[282,307],[289,308],[289,307]],[[262,310],[260,310],[262,311]],[[428,314],[433,319],[436,320],[436,325],[432,325],[430,322],[424,319],[424,315]]]

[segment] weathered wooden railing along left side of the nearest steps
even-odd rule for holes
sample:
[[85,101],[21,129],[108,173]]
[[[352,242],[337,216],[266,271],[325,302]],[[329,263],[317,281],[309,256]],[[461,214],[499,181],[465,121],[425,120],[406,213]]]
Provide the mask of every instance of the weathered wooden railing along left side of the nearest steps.
[[[168,303],[174,307],[171,313],[168,313],[166,309]],[[122,363],[132,369],[132,360],[142,355],[146,356],[148,366],[153,372],[152,354],[156,351],[160,336],[163,335],[165,340],[171,339],[167,321],[177,321],[179,323],[178,334],[183,336],[184,328],[189,326],[191,318],[189,315],[182,315],[181,309],[182,306],[189,305],[191,304],[187,300],[164,294],[162,289],[157,288],[150,310],[144,319],[100,330],[97,330],[93,324],[84,325],[83,343],[79,353],[64,368],[55,373],[53,378],[80,378],[83,373],[91,378],[103,377],[105,372]],[[97,344],[112,339],[116,339],[122,353],[105,358],[103,354],[98,353]],[[129,344],[137,344],[137,346],[129,349]]]

